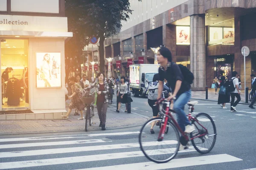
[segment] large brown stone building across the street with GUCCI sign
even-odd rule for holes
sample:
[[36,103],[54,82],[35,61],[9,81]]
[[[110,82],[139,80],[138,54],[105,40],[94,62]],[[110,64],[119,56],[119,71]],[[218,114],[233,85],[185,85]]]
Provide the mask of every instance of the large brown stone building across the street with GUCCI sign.
[[[244,57],[247,46],[246,86],[256,72],[256,0],[131,0],[134,10],[122,23],[119,34],[105,40],[111,48],[113,72],[127,75],[127,59],[133,63],[154,63],[151,48],[165,45],[173,61],[188,67],[195,76],[192,89],[211,87],[215,76],[241,75],[244,88]],[[115,63],[121,61],[121,68]]]

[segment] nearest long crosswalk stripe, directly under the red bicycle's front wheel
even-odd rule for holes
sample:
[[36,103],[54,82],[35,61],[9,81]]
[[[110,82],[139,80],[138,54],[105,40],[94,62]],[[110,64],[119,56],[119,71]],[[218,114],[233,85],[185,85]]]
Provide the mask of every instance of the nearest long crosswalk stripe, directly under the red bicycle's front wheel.
[[135,164],[122,164],[107,167],[85,168],[80,170],[162,170],[166,168],[189,167],[204,164],[217,164],[223,162],[242,161],[242,159],[228,154],[198,156],[191,158],[173,159],[165,164],[143,162]]

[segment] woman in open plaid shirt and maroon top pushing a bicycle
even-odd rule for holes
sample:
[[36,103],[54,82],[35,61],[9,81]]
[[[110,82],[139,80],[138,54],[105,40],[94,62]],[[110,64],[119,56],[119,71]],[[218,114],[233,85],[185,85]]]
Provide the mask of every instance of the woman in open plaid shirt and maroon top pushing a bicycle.
[[104,74],[97,74],[98,80],[94,82],[87,88],[84,88],[85,91],[88,91],[95,87],[97,94],[96,105],[97,111],[99,115],[99,127],[102,127],[102,130],[106,130],[106,118],[107,118],[107,109],[108,109],[108,94],[109,94],[109,86],[108,82],[104,81]]

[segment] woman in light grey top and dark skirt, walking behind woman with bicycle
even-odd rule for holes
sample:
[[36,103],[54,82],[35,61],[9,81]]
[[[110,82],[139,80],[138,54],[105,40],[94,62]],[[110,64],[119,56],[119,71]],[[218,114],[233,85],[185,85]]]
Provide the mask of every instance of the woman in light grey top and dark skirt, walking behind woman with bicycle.
[[119,85],[119,90],[117,93],[117,102],[118,102],[118,110],[116,110],[117,113],[119,113],[121,108],[121,103],[125,103],[125,112],[127,112],[127,92],[128,92],[128,86],[125,83],[125,77],[121,77],[121,84]]

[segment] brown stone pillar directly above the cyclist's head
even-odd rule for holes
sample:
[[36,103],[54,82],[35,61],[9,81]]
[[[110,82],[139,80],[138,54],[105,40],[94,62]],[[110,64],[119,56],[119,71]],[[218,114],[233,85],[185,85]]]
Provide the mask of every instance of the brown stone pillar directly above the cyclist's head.
[[176,26],[163,25],[163,44],[172,52],[172,61],[176,62]]

